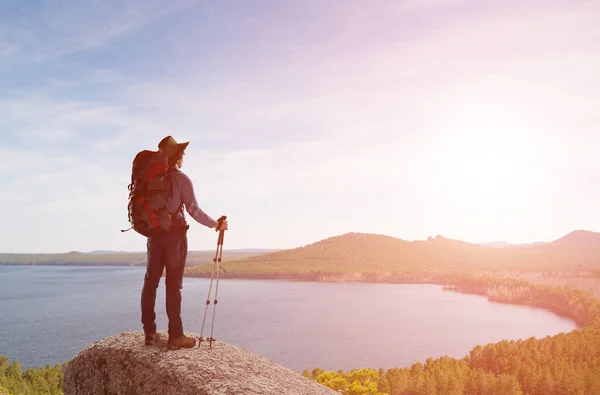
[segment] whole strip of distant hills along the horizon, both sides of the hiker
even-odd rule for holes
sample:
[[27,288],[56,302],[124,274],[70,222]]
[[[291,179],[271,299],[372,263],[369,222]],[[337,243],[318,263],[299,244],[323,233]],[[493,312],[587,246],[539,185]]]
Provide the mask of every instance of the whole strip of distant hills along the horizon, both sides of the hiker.
[[[212,263],[215,250],[190,251],[188,267]],[[600,270],[600,233],[576,230],[548,243],[482,244],[444,236],[406,241],[346,233],[305,246],[224,250],[228,270],[260,272],[397,272],[422,270]],[[1,254],[0,264],[145,265],[146,254],[95,250],[63,254]],[[198,269],[200,270],[200,269]]]

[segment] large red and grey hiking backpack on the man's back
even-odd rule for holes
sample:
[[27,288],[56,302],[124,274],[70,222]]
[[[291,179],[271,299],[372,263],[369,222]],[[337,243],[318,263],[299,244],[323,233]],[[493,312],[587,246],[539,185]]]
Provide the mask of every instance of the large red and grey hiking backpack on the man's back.
[[167,156],[159,151],[144,150],[135,156],[131,184],[127,187],[129,229],[146,237],[161,237],[169,233],[173,218],[179,211],[171,213],[167,209],[167,199],[172,191],[170,171]]

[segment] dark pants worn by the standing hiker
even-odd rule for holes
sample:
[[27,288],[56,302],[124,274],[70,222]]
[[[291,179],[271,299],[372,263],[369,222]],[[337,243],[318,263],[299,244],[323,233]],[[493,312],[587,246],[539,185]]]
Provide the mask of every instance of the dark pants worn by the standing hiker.
[[144,288],[142,289],[142,325],[147,334],[156,332],[156,289],[166,268],[167,317],[169,317],[169,337],[183,335],[181,321],[181,289],[183,270],[187,257],[187,235],[185,233],[164,238],[149,237],[146,243],[148,263]]

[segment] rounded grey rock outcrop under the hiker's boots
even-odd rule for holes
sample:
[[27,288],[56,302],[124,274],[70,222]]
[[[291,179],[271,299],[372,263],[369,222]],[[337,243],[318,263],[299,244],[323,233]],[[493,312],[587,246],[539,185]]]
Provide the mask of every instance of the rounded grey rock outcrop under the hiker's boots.
[[[166,339],[166,333],[160,331]],[[192,336],[193,334],[187,334]],[[197,335],[194,335],[198,337]],[[90,344],[69,361],[65,395],[335,395],[291,369],[231,344],[168,350],[144,345],[143,332]],[[338,394],[339,395],[339,394]]]

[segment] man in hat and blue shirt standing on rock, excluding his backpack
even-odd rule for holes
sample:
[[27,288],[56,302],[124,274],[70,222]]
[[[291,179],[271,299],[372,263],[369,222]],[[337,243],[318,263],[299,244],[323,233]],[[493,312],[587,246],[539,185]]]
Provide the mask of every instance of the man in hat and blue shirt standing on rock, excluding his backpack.
[[172,196],[167,201],[167,209],[176,215],[173,220],[173,229],[167,236],[148,238],[146,243],[148,260],[141,298],[142,325],[146,334],[145,344],[154,345],[160,340],[160,334],[156,332],[154,311],[156,289],[163,269],[166,268],[166,305],[169,318],[167,347],[171,350],[193,348],[196,345],[193,337],[183,334],[181,321],[181,289],[183,288],[183,271],[188,248],[186,233],[189,228],[183,207],[185,206],[192,218],[208,228],[215,228],[219,231],[228,228],[226,220],[217,223],[200,209],[192,181],[179,170],[183,166],[183,156],[188,144],[189,142],[177,143],[171,136],[165,137],[158,144],[159,151],[167,156],[168,165],[171,168],[173,190]]

